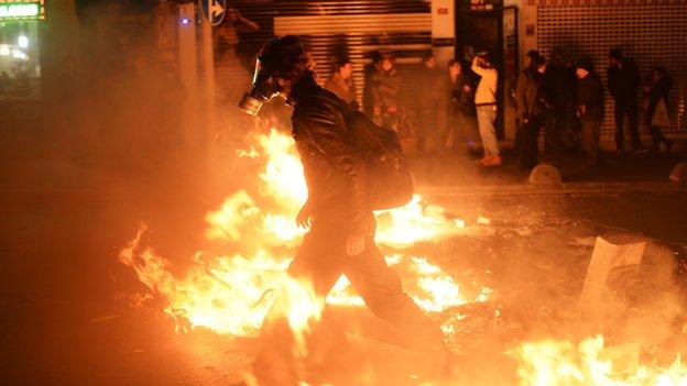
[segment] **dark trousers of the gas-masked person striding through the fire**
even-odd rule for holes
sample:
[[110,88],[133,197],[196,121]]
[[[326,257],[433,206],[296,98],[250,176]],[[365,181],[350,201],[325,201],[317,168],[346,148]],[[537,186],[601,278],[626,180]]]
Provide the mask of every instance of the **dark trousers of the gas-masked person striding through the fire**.
[[[370,214],[372,216],[372,214]],[[403,293],[396,272],[390,268],[374,244],[373,238],[367,241],[366,251],[358,256],[346,254],[346,232],[336,224],[316,224],[305,235],[296,257],[288,267],[288,274],[299,280],[309,280],[315,293],[325,297],[336,280],[346,274],[356,291],[364,299],[368,308],[377,317],[390,322],[404,337],[401,345],[427,355],[437,355],[445,348],[443,333],[432,320]],[[305,373],[313,368],[338,368],[346,371],[348,360],[342,359],[347,341],[344,333],[327,323],[326,319],[316,324],[306,337],[308,353],[298,359],[292,350],[294,335],[287,320],[280,315],[275,301],[265,318],[260,340],[262,350],[253,362],[254,376],[259,385],[296,385]],[[277,310],[277,311],[275,311]],[[351,370],[352,371],[352,370]],[[312,382],[308,382],[313,384]],[[323,382],[315,382],[320,384]]]

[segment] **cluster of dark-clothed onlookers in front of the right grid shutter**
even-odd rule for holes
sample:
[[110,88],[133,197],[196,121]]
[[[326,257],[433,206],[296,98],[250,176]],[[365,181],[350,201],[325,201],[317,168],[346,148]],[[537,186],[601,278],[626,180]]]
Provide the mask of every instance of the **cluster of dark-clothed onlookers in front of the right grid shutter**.
[[[625,151],[624,122],[630,122],[633,150],[646,153],[639,130],[640,109],[637,103],[641,86],[640,73],[635,64],[623,56],[619,49],[609,52],[607,87],[613,98],[615,120],[615,146],[618,153]],[[599,135],[604,117],[603,85],[595,71],[589,57],[581,58],[575,66],[560,67],[557,64],[548,67],[546,59],[537,52],[526,55],[525,69],[517,78],[515,104],[520,121],[517,150],[520,166],[530,170],[537,165],[539,130],[546,130],[546,146],[556,147],[560,123],[566,118],[568,106],[566,90],[572,92],[572,111],[581,123],[582,147],[587,154],[587,164],[598,165]],[[567,74],[566,74],[567,73]],[[574,88],[560,87],[571,77],[577,78]],[[672,80],[663,67],[654,67],[648,81],[642,87],[642,107],[645,111],[645,123],[653,136],[652,151],[658,153],[661,145],[669,152],[673,142],[662,133],[662,128],[670,124],[667,113],[667,98]]]

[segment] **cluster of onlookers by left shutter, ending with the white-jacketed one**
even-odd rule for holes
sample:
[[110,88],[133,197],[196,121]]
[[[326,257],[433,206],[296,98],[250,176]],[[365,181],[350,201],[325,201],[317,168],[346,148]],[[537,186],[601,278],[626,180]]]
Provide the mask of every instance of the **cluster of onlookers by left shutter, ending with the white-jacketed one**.
[[[447,146],[458,150],[467,143],[470,128],[477,125],[477,111],[482,143],[487,148],[487,155],[480,163],[499,165],[501,158],[493,126],[498,73],[486,53],[475,58],[470,69],[458,60],[450,60],[448,71],[444,73],[430,53],[423,57],[413,87],[412,112],[417,123],[417,152],[425,154]],[[475,74],[481,77],[479,82]],[[401,86],[402,79],[396,71],[394,57],[380,54],[370,66],[367,88],[363,90],[363,110],[377,124],[394,131],[399,130],[401,122]],[[335,64],[325,88],[349,103],[357,100],[358,89],[349,58]],[[441,122],[444,117],[440,117],[444,111],[447,112],[446,123]]]

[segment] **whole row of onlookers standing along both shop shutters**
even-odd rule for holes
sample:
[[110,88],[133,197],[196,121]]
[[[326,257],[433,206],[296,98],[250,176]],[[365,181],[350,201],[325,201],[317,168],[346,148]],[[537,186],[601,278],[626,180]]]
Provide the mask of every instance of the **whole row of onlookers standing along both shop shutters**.
[[[375,123],[399,130],[402,79],[394,64],[393,56],[380,55],[370,66],[367,89],[363,90],[363,108]],[[640,111],[643,110],[653,136],[651,151],[658,153],[663,145],[669,152],[673,142],[662,133],[662,128],[669,125],[667,98],[672,87],[665,68],[655,67],[648,81],[642,86],[636,66],[619,49],[609,53],[609,64],[606,87],[614,101],[617,151],[623,153],[625,150],[624,122],[628,119],[633,150],[636,153],[648,152],[642,144],[639,130]],[[425,154],[447,147],[458,151],[478,129],[483,147],[483,157],[478,163],[483,166],[501,165],[501,150],[494,129],[499,73],[489,54],[478,53],[471,64],[450,60],[447,73],[444,73],[436,58],[428,53],[414,78],[417,152]],[[525,56],[525,69],[513,86],[510,91],[517,118],[515,145],[523,170],[531,170],[538,163],[542,129],[545,130],[546,151],[554,154],[563,146],[565,131],[578,130],[579,133],[581,128],[587,164],[599,164],[604,86],[589,57],[574,64],[556,51],[547,62],[537,51],[531,51]],[[640,87],[642,109],[637,102]],[[325,88],[349,103],[357,100],[358,89],[350,59],[336,63]],[[447,114],[441,122],[444,111]]]

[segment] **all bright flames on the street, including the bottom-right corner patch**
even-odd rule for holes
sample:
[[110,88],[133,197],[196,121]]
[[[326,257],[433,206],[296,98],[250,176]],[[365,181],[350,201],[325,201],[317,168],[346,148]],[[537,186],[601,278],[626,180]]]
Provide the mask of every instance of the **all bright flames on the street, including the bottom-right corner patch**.
[[[321,299],[309,283],[286,274],[290,256],[305,233],[294,218],[307,199],[293,140],[272,130],[255,136],[255,145],[238,156],[264,163],[259,189],[239,190],[209,212],[205,235],[210,242],[226,242],[231,247],[236,244],[240,253],[214,256],[198,252],[193,264],[176,276],[171,262],[143,245],[146,227],[142,225],[121,251],[119,261],[135,272],[151,294],[166,300],[164,312],[173,318],[178,331],[207,328],[217,333],[255,337],[273,309],[275,316],[287,319],[295,338],[294,354],[303,356],[307,353],[305,337],[320,319],[325,304],[359,307],[364,301],[344,275]],[[460,234],[466,227],[462,220],[452,219],[444,208],[429,205],[418,195],[403,208],[377,214],[377,241],[394,250],[385,257],[386,264],[410,276],[403,277],[404,288],[424,310],[443,312],[492,296],[493,290],[483,287],[476,297],[468,297],[454,277],[427,257],[404,254],[404,249],[415,243]],[[478,220],[481,224],[489,222],[481,217]],[[456,334],[456,323],[465,318],[454,312],[441,326],[444,333]],[[526,342],[508,353],[519,362],[521,385],[687,385],[687,367],[679,356],[659,366],[641,365],[639,354],[630,355],[636,363],[620,368],[610,359],[611,351],[598,335],[579,344]]]

